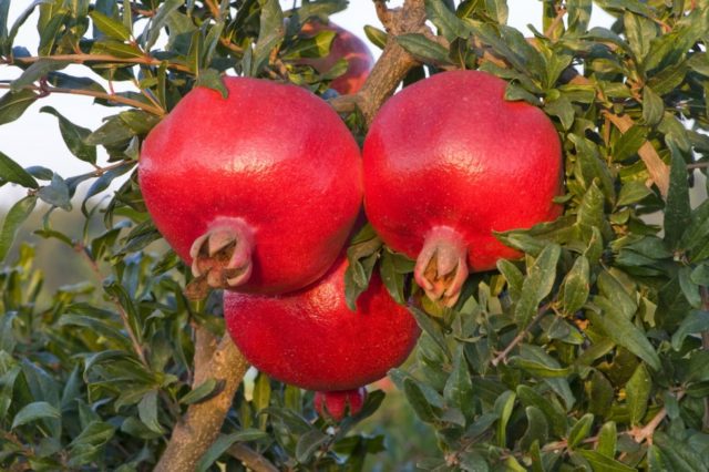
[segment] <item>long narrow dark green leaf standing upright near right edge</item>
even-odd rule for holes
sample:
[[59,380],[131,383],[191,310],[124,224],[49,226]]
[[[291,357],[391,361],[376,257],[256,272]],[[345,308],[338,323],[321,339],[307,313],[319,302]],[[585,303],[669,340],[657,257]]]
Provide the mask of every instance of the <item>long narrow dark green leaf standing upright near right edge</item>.
[[691,223],[691,207],[689,206],[689,186],[687,183],[687,164],[672,141],[668,141],[672,153],[669,174],[669,191],[665,205],[665,242],[672,249],[678,248],[685,229]]

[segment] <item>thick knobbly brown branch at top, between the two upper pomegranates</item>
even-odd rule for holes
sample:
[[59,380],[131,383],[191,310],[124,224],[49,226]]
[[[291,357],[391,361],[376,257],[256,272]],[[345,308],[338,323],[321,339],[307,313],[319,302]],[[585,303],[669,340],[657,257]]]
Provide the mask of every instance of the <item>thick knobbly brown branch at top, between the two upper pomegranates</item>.
[[376,1],[374,4],[377,14],[389,34],[381,58],[358,93],[339,96],[330,102],[335,110],[340,112],[352,111],[357,105],[364,115],[367,124],[372,122],[377,111],[394,93],[411,68],[419,64],[419,61],[399,45],[397,37],[405,33],[424,33],[429,30],[425,25],[423,0],[407,0],[403,7],[397,9],[388,9],[381,0]]

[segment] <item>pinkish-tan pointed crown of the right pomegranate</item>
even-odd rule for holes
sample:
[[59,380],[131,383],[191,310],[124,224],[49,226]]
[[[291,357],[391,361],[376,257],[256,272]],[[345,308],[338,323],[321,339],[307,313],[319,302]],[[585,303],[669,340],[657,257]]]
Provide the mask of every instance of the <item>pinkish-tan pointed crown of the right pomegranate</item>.
[[467,278],[467,246],[455,229],[435,226],[425,236],[413,277],[433,301],[452,307]]

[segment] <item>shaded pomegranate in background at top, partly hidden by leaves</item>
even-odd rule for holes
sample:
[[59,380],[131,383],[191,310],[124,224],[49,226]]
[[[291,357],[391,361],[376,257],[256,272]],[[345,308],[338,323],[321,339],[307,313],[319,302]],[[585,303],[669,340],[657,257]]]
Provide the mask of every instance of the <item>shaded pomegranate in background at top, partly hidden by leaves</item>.
[[315,34],[322,30],[335,31],[330,53],[325,58],[304,59],[299,62],[312,65],[318,72],[325,73],[329,71],[337,61],[345,59],[349,63],[349,66],[342,75],[330,83],[330,88],[337,90],[337,92],[342,95],[356,93],[364,84],[367,75],[369,75],[369,71],[374,64],[372,53],[364,41],[331,21],[328,24],[310,21],[302,27],[302,32],[306,34]]

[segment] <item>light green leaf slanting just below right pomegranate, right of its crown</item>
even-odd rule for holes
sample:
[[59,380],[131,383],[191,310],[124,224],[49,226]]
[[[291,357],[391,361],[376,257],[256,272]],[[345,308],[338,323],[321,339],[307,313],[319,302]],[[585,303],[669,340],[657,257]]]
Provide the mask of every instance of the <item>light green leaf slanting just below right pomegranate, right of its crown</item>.
[[552,291],[556,280],[556,263],[561,254],[561,246],[549,244],[527,269],[520,301],[514,310],[520,328],[525,328],[530,324],[538,309],[540,301]]

